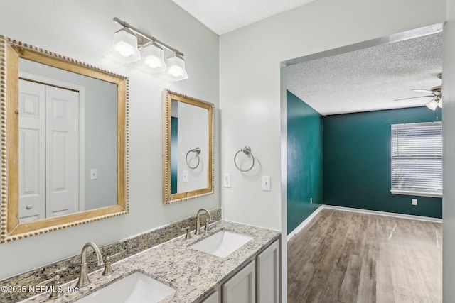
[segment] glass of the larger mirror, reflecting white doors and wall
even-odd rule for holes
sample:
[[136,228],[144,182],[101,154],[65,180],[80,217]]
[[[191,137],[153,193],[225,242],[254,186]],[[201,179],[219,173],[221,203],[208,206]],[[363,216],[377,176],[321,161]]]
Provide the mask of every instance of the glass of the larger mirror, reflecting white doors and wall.
[[[19,128],[28,146],[37,141],[35,151],[18,144],[19,221],[117,204],[117,85],[22,58],[19,78]],[[38,114],[35,131],[22,125]]]

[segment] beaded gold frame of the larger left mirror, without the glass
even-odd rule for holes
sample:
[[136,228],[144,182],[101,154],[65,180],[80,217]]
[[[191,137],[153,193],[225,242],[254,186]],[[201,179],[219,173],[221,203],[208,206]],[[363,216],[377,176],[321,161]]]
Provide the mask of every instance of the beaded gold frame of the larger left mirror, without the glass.
[[[43,63],[117,84],[117,204],[26,223],[18,221],[18,60]],[[0,35],[0,243],[129,212],[129,91],[127,77]]]

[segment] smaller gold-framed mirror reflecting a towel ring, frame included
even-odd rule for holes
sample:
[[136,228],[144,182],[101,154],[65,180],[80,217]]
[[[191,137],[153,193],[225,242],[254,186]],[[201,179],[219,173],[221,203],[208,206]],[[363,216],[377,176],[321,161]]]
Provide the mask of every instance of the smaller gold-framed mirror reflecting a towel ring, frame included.
[[163,203],[213,194],[213,104],[164,90]]

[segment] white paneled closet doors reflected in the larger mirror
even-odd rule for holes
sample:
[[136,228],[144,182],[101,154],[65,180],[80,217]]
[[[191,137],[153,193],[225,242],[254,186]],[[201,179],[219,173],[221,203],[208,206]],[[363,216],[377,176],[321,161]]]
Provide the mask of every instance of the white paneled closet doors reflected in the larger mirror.
[[19,221],[79,211],[79,93],[19,81]]

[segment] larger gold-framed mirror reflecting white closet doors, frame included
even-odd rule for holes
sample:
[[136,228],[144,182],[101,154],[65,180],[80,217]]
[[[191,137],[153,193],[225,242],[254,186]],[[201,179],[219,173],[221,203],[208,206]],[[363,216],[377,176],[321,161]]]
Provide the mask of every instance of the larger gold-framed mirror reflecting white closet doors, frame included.
[[127,214],[128,78],[0,36],[0,242]]

